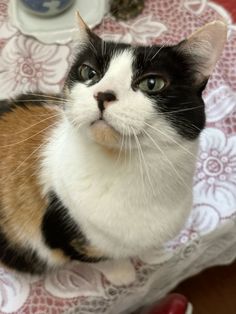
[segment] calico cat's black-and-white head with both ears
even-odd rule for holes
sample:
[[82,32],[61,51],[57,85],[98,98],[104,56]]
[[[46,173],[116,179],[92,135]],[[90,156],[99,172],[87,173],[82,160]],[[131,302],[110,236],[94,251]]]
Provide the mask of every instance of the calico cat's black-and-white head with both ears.
[[223,22],[175,46],[143,47],[105,42],[78,20],[77,53],[65,85],[65,112],[75,128],[119,149],[127,139],[135,147],[199,136],[202,91],[226,41]]

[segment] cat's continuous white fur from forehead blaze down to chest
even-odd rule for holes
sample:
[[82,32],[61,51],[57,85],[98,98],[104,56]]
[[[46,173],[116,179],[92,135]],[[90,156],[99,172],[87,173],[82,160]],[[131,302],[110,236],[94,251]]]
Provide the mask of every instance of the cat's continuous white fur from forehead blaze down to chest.
[[[192,206],[198,147],[197,141],[180,138],[151,100],[131,89],[131,64],[130,50],[114,56],[94,86],[75,84],[66,115],[43,152],[41,172],[44,193],[54,190],[91,244],[114,258],[143,254],[180,231]],[[88,136],[100,114],[93,95],[107,89],[118,98],[105,110],[107,123],[124,134],[132,127],[143,156],[134,136],[131,157],[118,161]]]

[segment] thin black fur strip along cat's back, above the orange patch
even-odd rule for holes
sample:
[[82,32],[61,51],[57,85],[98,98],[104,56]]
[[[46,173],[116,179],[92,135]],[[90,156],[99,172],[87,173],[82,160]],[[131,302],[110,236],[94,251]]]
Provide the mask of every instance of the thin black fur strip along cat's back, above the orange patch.
[[[52,97],[60,98],[60,95],[54,95]],[[36,96],[34,94],[22,94],[14,99],[0,100],[0,117],[4,114],[14,111],[17,107],[23,107],[29,109],[30,106],[45,106],[50,104],[57,104],[57,100],[53,100],[50,95],[41,94]]]

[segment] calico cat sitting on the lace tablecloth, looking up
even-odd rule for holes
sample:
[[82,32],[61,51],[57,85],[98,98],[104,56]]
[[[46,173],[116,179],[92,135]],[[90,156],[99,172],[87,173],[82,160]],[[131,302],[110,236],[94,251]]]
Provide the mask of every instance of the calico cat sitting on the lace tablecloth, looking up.
[[78,23],[63,92],[0,104],[0,260],[23,272],[147,254],[192,206],[202,91],[226,25],[143,47]]

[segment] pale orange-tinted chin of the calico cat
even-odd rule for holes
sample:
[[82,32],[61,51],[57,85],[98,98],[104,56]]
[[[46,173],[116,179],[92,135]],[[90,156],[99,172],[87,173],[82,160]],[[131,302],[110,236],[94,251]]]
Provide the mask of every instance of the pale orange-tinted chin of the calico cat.
[[90,125],[90,136],[98,144],[111,149],[120,147],[121,135],[105,120],[96,120]]

